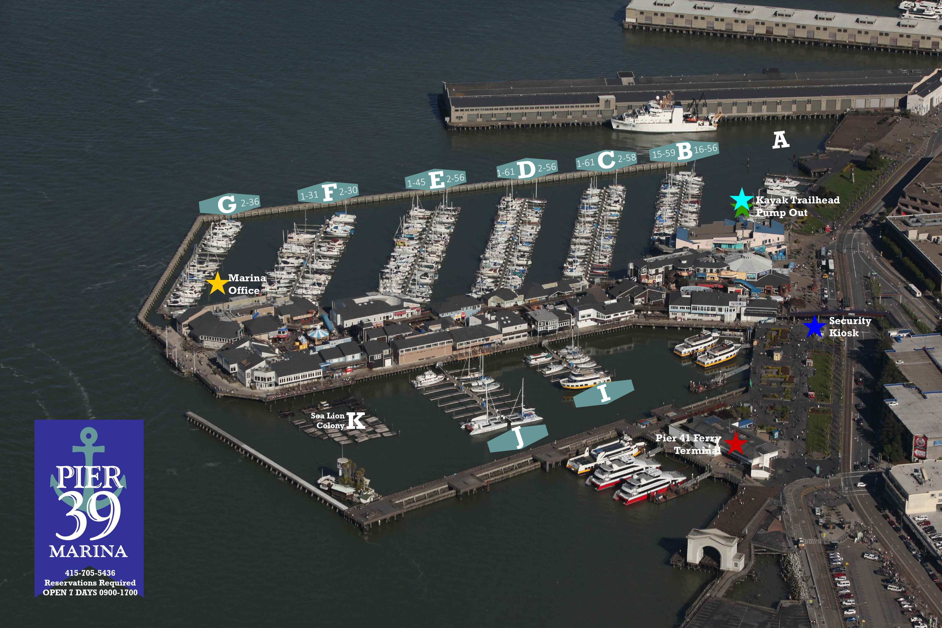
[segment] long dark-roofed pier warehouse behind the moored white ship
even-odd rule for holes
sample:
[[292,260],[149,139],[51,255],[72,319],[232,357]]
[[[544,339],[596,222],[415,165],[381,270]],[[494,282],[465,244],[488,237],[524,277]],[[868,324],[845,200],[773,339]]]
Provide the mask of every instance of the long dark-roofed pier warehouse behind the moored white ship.
[[719,111],[734,120],[837,116],[851,109],[920,110],[942,100],[942,71],[766,68],[754,74],[618,72],[614,78],[445,83],[440,104],[449,129],[592,125],[671,92],[687,110]]

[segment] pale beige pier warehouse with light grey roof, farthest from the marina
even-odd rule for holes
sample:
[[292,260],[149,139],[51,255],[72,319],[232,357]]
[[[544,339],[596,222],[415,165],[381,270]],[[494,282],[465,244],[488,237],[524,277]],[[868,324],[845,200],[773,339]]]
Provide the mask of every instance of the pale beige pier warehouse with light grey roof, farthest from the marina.
[[938,55],[942,43],[942,29],[937,20],[698,0],[631,0],[625,7],[622,25],[712,37],[922,55]]

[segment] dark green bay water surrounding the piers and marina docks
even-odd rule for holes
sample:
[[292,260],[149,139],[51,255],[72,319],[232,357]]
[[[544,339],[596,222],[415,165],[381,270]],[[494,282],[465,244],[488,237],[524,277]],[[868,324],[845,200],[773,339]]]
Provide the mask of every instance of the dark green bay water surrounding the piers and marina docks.
[[[885,3],[795,6],[894,11]],[[369,536],[187,425],[196,411],[290,469],[316,474],[333,445],[301,435],[261,404],[214,399],[174,374],[134,315],[197,212],[226,191],[293,201],[325,180],[364,194],[400,189],[429,168],[470,181],[522,156],[572,164],[603,148],[647,148],[661,137],[606,128],[448,133],[434,106],[441,81],[641,74],[925,67],[925,57],[623,32],[623,5],[550,1],[512,10],[483,2],[197,2],[7,5],[0,154],[0,251],[5,283],[0,373],[6,403],[0,470],[10,489],[0,547],[0,607],[14,626],[291,625],[304,622],[477,626],[625,620],[676,623],[707,577],[666,560],[707,523],[726,490],[707,484],[662,506],[620,507],[560,470],[533,473],[462,502],[422,509]],[[830,121],[728,124],[721,154],[701,160],[705,220],[727,195],[820,144]],[[771,151],[772,132],[791,147]],[[749,159],[749,169],[746,160]],[[564,169],[570,169],[566,167]],[[659,175],[629,186],[616,265],[640,255]],[[541,187],[548,201],[530,278],[555,281],[580,185]],[[468,289],[495,194],[461,197],[461,221],[436,297]],[[360,220],[327,298],[375,288],[403,206]],[[312,217],[313,218],[313,217]],[[293,220],[252,221],[227,272],[273,263]],[[636,392],[577,411],[523,367],[490,362],[528,399],[551,436],[688,402],[691,368],[669,343],[638,331],[593,338],[625,346],[597,358]],[[358,389],[395,439],[346,451],[381,492],[488,459],[406,378]],[[300,405],[300,404],[299,404]],[[33,420],[145,420],[146,597],[32,600]],[[630,609],[630,612],[626,609]]]

